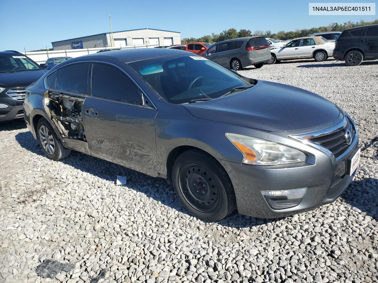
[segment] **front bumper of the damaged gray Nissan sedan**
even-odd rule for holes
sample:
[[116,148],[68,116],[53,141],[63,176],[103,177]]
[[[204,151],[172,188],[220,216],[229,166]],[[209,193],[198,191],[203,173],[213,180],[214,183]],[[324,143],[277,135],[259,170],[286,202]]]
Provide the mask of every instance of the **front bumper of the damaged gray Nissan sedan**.
[[[358,150],[356,138],[349,152],[341,160],[332,160],[319,151],[315,165],[293,165],[292,167],[251,166],[218,160],[231,178],[240,214],[260,218],[279,218],[336,200],[352,181],[355,172],[349,175],[348,160]],[[304,197],[296,206],[273,209],[261,191],[277,191],[307,188]]]

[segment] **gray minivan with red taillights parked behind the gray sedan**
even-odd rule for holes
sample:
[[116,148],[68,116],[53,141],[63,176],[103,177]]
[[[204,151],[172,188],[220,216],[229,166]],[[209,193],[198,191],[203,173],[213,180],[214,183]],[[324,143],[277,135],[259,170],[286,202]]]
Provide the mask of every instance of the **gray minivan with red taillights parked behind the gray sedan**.
[[269,42],[263,36],[217,42],[203,56],[236,71],[251,65],[261,68],[271,58]]

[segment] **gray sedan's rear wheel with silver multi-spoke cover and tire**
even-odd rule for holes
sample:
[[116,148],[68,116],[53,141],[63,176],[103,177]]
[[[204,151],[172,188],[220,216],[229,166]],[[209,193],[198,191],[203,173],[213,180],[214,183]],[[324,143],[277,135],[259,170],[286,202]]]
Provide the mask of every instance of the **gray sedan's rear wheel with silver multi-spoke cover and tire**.
[[45,118],[40,118],[37,123],[37,135],[39,143],[47,158],[59,160],[67,157],[71,149],[65,148],[57,137],[53,127]]

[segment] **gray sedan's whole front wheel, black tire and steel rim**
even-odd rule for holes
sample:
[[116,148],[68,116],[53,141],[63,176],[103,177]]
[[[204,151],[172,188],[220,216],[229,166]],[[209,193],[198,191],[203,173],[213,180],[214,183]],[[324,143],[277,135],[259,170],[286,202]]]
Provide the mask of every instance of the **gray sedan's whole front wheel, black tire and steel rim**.
[[183,152],[173,165],[172,181],[183,206],[197,218],[219,221],[236,208],[228,174],[215,158],[202,151]]

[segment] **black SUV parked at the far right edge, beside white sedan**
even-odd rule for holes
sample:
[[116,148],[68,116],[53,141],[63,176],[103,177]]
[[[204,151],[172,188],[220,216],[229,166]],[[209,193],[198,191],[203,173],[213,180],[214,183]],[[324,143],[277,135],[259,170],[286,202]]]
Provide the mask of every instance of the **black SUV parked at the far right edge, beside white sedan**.
[[378,25],[345,29],[336,39],[333,58],[345,60],[348,66],[378,59]]

